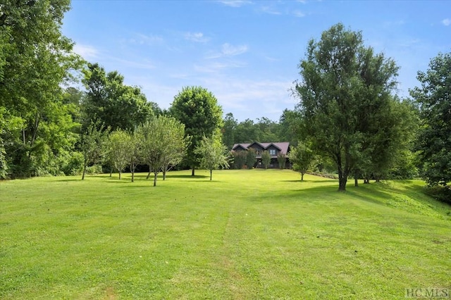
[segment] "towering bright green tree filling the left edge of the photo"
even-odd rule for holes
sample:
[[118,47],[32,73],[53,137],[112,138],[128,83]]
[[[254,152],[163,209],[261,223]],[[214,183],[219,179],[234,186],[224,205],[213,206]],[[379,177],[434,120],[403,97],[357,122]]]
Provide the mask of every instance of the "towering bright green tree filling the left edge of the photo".
[[76,127],[66,118],[61,85],[81,65],[61,34],[70,1],[5,0],[0,7],[0,107],[12,121],[0,137],[8,172],[58,173]]

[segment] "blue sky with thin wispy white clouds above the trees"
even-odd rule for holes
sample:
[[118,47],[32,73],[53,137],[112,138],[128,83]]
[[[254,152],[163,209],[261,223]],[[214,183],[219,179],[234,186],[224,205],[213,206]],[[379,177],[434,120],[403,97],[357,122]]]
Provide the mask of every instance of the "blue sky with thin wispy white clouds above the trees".
[[400,96],[431,58],[451,51],[451,1],[73,0],[63,34],[161,108],[200,85],[224,115],[277,121],[297,103],[289,89],[307,42],[339,22],[397,62]]

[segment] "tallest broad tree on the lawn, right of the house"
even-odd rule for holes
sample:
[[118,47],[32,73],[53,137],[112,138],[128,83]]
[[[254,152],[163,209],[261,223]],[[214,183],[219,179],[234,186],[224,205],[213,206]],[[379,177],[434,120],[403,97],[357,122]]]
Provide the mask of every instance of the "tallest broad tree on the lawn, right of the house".
[[365,47],[361,32],[345,30],[340,23],[323,32],[319,42],[311,39],[306,56],[299,63],[302,81],[294,90],[303,135],[311,139],[312,150],[334,161],[338,189],[345,191],[364,147],[378,143],[366,137],[383,130],[373,124],[383,123],[381,109],[390,101],[398,68]]

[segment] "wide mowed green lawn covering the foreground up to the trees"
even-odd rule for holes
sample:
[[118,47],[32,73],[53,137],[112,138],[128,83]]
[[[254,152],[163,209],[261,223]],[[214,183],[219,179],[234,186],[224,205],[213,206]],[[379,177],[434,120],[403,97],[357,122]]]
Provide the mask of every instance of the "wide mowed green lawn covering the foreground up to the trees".
[[0,182],[0,299],[404,299],[451,288],[451,207],[419,181],[290,170]]

